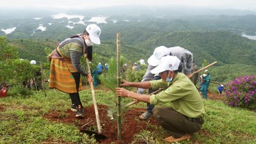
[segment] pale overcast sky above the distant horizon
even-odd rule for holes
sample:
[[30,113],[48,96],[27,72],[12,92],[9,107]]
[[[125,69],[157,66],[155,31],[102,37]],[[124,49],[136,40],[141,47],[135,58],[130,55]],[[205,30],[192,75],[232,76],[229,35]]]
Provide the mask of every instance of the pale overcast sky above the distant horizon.
[[197,6],[256,11],[256,0],[3,0],[3,8],[99,8],[116,5]]

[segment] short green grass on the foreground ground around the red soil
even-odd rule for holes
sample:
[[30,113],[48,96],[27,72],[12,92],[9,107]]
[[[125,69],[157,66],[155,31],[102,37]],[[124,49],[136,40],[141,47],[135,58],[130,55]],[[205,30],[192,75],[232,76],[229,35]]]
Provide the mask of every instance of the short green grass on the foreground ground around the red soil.
[[[116,96],[111,91],[95,90],[98,104],[107,105],[116,111]],[[93,104],[90,90],[79,93],[85,107]],[[132,108],[145,108],[140,102],[129,108],[124,105],[131,99],[122,99],[122,111]],[[253,111],[230,108],[221,101],[204,100],[205,123],[202,131],[181,143],[256,143],[256,113]],[[52,110],[60,112],[70,108],[69,96],[58,90],[34,93],[29,97],[6,97],[0,99],[0,143],[42,143],[58,141],[59,143],[97,143],[72,124],[51,122],[43,115]],[[64,115],[65,116],[65,115]],[[145,143],[164,143],[168,136],[156,125],[147,125],[147,129],[134,134],[134,141]]]

